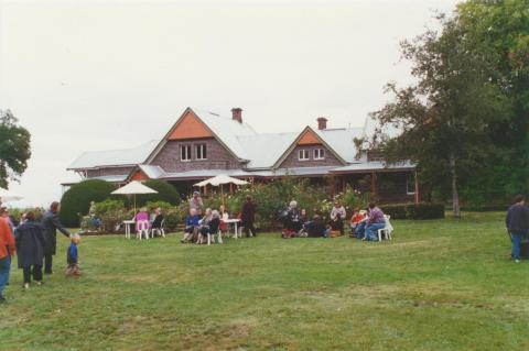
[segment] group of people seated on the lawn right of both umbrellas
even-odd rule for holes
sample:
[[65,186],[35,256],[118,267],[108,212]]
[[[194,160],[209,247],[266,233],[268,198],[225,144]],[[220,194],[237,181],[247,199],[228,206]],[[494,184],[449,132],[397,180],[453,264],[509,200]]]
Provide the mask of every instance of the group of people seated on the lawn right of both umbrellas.
[[[279,219],[283,223],[283,238],[328,238],[341,237],[345,234],[347,212],[345,207],[335,201],[328,216],[327,223],[324,222],[321,212],[316,211],[312,219],[307,218],[306,209],[298,209],[295,200],[290,201],[287,209],[279,213]],[[378,230],[386,228],[386,218],[382,210],[370,202],[367,210],[355,208],[350,220],[348,221],[349,235],[360,240],[378,241]]]

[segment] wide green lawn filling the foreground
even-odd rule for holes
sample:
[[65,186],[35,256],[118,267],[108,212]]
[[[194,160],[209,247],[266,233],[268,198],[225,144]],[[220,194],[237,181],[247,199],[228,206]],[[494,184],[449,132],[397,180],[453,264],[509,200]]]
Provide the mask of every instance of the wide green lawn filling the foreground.
[[62,237],[44,286],[12,270],[0,349],[529,350],[529,263],[503,218],[393,221],[382,243],[85,238],[79,279]]

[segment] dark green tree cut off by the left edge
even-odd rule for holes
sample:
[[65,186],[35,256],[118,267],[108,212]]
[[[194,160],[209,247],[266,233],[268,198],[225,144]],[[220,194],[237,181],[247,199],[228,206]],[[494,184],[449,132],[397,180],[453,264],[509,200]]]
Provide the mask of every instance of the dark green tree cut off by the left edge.
[[31,134],[18,125],[10,110],[0,110],[0,187],[8,187],[9,179],[18,179],[31,156]]

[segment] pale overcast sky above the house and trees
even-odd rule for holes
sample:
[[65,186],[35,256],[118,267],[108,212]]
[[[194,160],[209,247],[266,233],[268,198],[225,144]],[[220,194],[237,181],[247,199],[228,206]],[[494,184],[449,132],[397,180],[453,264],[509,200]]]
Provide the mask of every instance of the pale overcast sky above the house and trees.
[[160,139],[187,106],[258,132],[359,127],[411,81],[399,42],[456,2],[0,0],[0,108],[33,152],[12,205],[60,199],[84,151]]

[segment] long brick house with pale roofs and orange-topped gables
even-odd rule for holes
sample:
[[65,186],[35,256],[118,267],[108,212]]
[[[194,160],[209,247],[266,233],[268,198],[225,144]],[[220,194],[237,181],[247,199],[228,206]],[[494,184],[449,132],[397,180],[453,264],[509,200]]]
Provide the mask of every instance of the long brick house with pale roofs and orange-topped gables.
[[376,152],[355,144],[355,139],[374,132],[370,119],[363,128],[327,129],[326,122],[321,117],[317,128],[263,134],[244,122],[240,108],[231,109],[231,117],[187,108],[162,140],[129,150],[86,152],[67,169],[82,179],[120,185],[163,179],[181,194],[218,174],[257,183],[290,175],[321,184],[331,193],[350,185],[384,202],[418,201],[412,164],[385,165]]

